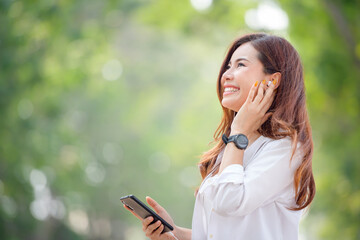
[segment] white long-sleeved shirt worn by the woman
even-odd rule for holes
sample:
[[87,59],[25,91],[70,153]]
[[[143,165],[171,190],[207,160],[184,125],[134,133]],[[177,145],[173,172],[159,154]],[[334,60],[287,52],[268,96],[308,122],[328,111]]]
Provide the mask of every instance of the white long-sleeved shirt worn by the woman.
[[245,150],[243,166],[209,174],[196,195],[192,239],[298,239],[302,211],[288,208],[296,206],[293,183],[301,155],[297,151],[290,164],[291,153],[290,138],[260,136]]

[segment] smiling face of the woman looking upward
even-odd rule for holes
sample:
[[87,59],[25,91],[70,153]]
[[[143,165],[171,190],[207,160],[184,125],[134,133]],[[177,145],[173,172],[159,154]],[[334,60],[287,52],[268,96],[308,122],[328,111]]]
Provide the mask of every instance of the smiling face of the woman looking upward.
[[221,104],[224,107],[238,112],[252,85],[256,81],[260,84],[265,79],[264,67],[257,55],[258,51],[248,42],[238,47],[231,56],[228,68],[221,77]]

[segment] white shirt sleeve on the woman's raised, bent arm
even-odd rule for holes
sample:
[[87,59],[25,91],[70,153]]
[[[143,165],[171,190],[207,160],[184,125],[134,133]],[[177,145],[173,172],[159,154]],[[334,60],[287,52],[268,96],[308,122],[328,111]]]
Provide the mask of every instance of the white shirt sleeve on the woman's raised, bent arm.
[[213,202],[213,209],[224,215],[244,216],[293,184],[301,155],[297,151],[290,163],[291,141],[269,142],[246,166],[232,164],[220,175],[207,179],[199,190]]

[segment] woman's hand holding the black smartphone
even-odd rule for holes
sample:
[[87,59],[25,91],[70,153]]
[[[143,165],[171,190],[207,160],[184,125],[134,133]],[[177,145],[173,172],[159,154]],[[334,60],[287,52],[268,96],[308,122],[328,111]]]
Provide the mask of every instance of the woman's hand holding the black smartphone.
[[[155,212],[162,217],[166,222],[168,222],[171,226],[174,227],[174,230],[176,229],[176,226],[174,224],[173,219],[170,217],[170,215],[167,213],[167,211],[160,206],[154,199],[151,197],[146,197],[146,202],[155,210]],[[145,219],[142,219],[139,217],[136,213],[131,211],[129,208],[127,208],[124,205],[124,208],[129,210],[135,217],[140,219],[142,221],[143,225],[143,231],[145,235],[150,238],[151,240],[174,240],[174,236],[171,233],[162,233],[164,230],[164,225],[161,224],[160,221],[156,221],[155,223],[152,223],[154,220],[153,217],[147,217]]]

